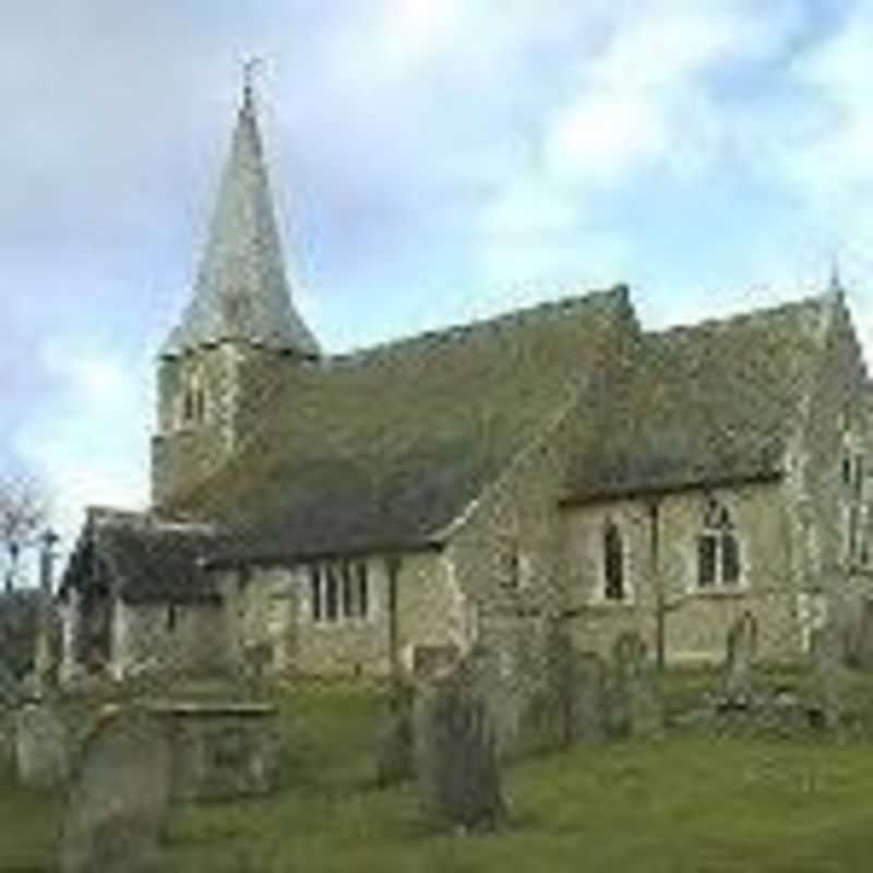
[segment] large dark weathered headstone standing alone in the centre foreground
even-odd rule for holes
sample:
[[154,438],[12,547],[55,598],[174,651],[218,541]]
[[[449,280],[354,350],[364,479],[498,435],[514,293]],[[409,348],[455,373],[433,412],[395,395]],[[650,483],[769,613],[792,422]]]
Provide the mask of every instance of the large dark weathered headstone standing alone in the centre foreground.
[[434,677],[417,696],[415,749],[426,815],[464,832],[500,825],[505,806],[494,730],[466,665]]

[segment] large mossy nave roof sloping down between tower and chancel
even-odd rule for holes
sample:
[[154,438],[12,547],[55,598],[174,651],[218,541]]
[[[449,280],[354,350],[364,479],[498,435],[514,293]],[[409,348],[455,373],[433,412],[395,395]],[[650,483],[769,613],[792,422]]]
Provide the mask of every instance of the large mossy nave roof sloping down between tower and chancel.
[[236,530],[252,560],[438,543],[629,328],[620,287],[283,368],[248,445],[169,509]]

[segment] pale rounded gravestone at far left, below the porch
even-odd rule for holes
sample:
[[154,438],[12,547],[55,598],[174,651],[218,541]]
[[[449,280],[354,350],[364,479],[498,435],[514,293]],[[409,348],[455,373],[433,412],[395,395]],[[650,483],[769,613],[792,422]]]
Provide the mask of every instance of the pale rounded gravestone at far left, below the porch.
[[71,767],[70,731],[48,701],[24,704],[15,715],[15,773],[20,785],[56,788]]

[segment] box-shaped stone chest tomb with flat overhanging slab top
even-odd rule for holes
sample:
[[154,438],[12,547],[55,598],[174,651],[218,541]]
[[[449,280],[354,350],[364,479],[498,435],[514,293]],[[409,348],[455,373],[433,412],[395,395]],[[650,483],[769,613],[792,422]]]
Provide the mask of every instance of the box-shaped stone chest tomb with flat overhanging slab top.
[[266,794],[278,777],[277,710],[242,702],[154,703],[172,749],[177,800],[230,800]]

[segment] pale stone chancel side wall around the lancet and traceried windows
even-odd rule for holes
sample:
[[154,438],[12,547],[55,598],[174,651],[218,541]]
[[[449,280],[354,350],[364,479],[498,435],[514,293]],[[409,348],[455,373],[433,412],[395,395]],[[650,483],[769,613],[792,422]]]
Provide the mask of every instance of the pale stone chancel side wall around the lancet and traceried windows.
[[[734,584],[698,585],[697,538],[708,501],[730,513],[740,550]],[[636,630],[656,648],[658,586],[669,607],[668,661],[719,660],[727,629],[745,611],[756,619],[761,655],[792,660],[802,653],[792,573],[794,539],[788,491],[779,482],[713,492],[693,490],[646,500],[602,501],[564,512],[573,635],[583,649],[606,656],[623,631]],[[625,599],[605,597],[603,530],[621,531]]]

